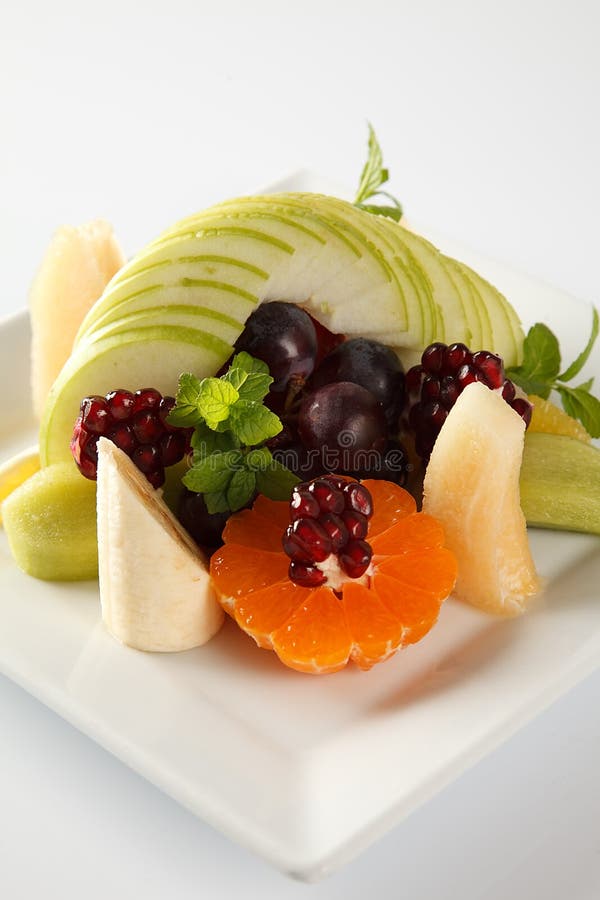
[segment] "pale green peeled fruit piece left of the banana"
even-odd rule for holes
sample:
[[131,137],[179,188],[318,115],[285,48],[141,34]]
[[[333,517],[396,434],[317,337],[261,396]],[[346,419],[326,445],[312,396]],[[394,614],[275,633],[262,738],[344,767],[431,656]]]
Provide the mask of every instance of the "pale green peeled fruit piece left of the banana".
[[96,483],[73,460],[41,469],[2,504],[15,562],[45,581],[84,581],[98,574]]

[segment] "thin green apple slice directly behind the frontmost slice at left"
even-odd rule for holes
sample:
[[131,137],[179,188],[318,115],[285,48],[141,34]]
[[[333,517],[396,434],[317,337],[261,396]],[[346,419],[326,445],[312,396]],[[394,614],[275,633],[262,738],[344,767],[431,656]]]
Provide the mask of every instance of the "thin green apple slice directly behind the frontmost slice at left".
[[212,335],[233,345],[239,335],[239,322],[225,313],[207,309],[203,306],[190,306],[182,304],[178,306],[155,306],[149,309],[141,309],[130,312],[119,319],[108,322],[89,332],[81,339],[78,349],[82,346],[96,343],[104,338],[117,334],[125,334],[128,331],[140,327],[160,327],[178,325],[184,328],[192,328],[203,334]]

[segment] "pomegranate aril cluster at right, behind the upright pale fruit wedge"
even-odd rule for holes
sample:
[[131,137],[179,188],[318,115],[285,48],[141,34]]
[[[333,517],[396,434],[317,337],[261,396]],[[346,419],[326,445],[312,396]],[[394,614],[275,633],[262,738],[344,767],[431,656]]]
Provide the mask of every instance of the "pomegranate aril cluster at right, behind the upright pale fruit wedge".
[[489,350],[473,353],[461,343],[430,344],[423,351],[420,365],[406,373],[408,424],[415,435],[415,450],[424,462],[429,460],[441,427],[459,395],[474,381],[501,392],[525,426],[529,425],[531,404],[516,396],[515,386],[506,378],[499,356]]

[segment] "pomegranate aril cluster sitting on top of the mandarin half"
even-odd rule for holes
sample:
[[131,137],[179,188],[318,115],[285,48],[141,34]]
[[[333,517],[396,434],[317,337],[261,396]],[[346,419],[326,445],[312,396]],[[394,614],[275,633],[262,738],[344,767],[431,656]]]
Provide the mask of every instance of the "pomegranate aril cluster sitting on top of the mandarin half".
[[302,587],[325,584],[319,563],[331,555],[349,578],[364,575],[373,555],[365,540],[372,515],[371,494],[358,481],[324,475],[296,485],[283,535],[290,579]]

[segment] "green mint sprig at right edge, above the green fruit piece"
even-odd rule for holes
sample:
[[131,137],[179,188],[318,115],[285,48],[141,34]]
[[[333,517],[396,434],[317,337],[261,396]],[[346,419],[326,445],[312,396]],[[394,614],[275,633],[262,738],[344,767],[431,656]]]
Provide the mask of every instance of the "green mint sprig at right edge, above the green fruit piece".
[[594,379],[575,387],[572,381],[589,359],[598,337],[600,319],[596,308],[593,310],[590,337],[579,356],[561,373],[560,346],[556,335],[537,322],[527,332],[523,342],[523,362],[520,366],[507,369],[507,377],[518,384],[528,394],[537,394],[547,400],[552,391],[559,395],[565,412],[578,419],[586,431],[600,437],[600,400],[591,393]]

